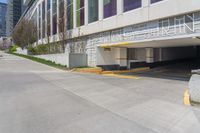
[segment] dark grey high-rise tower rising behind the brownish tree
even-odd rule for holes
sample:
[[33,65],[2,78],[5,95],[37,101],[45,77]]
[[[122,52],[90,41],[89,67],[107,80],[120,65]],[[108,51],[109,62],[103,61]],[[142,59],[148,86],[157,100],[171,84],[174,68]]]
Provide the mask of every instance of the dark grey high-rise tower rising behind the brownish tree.
[[6,35],[11,36],[22,15],[22,0],[8,0],[6,15]]

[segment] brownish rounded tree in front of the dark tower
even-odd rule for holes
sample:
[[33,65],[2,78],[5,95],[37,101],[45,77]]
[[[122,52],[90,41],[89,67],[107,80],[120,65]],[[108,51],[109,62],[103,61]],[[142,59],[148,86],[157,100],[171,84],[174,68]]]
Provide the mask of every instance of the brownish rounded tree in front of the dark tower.
[[22,19],[12,33],[14,43],[24,48],[37,41],[37,27],[33,21]]

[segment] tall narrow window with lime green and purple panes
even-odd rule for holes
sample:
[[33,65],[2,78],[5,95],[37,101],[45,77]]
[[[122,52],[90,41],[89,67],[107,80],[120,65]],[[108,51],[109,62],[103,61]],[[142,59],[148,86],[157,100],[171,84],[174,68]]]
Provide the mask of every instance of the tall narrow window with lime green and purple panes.
[[77,27],[84,25],[84,0],[76,1]]

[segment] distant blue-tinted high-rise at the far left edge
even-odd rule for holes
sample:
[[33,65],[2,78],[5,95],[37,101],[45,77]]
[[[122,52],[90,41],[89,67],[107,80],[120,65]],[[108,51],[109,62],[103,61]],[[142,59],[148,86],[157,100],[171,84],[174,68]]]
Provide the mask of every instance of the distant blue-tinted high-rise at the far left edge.
[[0,2],[0,37],[6,36],[6,10],[7,4]]

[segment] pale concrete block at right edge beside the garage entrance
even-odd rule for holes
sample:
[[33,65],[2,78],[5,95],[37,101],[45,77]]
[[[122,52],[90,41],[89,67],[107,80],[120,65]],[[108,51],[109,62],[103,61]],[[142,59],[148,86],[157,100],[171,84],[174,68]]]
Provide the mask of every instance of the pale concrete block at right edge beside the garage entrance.
[[200,70],[193,70],[189,81],[190,100],[200,103]]

